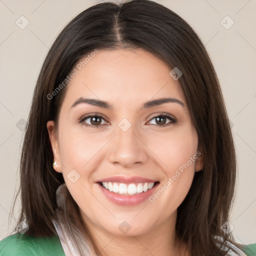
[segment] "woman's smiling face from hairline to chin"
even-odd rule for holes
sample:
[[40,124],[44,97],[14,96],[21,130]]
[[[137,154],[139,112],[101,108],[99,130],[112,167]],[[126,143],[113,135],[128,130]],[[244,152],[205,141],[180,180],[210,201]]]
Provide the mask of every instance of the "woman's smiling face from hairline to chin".
[[203,167],[179,81],[142,49],[99,50],[84,63],[66,85],[57,131],[47,122],[55,170],[94,227],[139,235],[175,222]]

